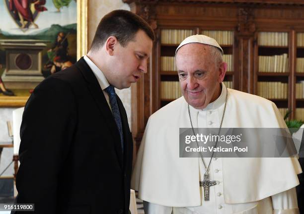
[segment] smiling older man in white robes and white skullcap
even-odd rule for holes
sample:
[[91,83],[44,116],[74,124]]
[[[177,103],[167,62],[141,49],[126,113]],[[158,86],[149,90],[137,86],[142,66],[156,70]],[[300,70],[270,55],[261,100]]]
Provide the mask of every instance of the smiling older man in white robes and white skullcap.
[[298,214],[297,158],[179,158],[179,128],[286,128],[271,101],[228,89],[227,63],[212,38],[176,49],[183,97],[148,120],[132,187],[145,214]]

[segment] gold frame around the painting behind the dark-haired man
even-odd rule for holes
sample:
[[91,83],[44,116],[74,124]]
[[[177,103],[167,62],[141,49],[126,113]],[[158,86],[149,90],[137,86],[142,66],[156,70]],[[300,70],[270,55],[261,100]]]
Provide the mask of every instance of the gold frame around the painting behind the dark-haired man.
[[[77,0],[77,60],[87,52],[88,0]],[[23,107],[29,96],[1,96],[0,107]]]

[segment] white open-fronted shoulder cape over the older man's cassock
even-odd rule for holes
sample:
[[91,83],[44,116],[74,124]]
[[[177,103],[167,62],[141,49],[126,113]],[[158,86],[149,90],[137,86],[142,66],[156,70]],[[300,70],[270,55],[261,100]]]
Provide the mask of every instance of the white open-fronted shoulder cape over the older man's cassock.
[[[225,87],[225,86],[224,86]],[[228,89],[223,127],[276,128],[286,124],[274,103]],[[131,187],[139,198],[169,207],[201,205],[199,159],[179,158],[179,128],[191,127],[183,97],[151,115],[138,152]],[[299,185],[297,158],[222,158],[228,204],[259,201]]]

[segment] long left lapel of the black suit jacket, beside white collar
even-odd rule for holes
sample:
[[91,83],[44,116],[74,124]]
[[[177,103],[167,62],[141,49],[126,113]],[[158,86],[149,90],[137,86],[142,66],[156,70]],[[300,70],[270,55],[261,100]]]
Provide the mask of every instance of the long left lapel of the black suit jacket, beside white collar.
[[82,73],[84,79],[88,83],[88,89],[94,98],[96,105],[98,106],[101,114],[105,118],[105,124],[110,129],[110,133],[114,138],[114,145],[116,149],[117,158],[119,160],[119,164],[123,169],[123,154],[122,154],[122,147],[120,141],[120,135],[115,123],[113,114],[110,110],[110,107],[104,97],[104,94],[100,88],[100,85],[90,67],[87,65],[83,57],[81,57],[77,62],[76,66],[79,68],[80,72]]

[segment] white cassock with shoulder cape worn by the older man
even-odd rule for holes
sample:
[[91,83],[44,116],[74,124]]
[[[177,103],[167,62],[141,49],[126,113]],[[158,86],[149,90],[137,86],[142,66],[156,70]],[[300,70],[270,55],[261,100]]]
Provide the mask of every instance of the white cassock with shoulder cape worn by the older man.
[[[206,108],[190,106],[193,127],[219,128],[226,99]],[[179,128],[191,128],[181,97],[149,118],[132,177],[146,201],[145,214],[298,214],[295,186],[302,172],[297,158],[213,158],[210,201],[204,201],[205,168],[199,158],[179,158]],[[223,128],[277,128],[286,124],[274,103],[228,89]],[[205,158],[208,164],[210,158]]]

